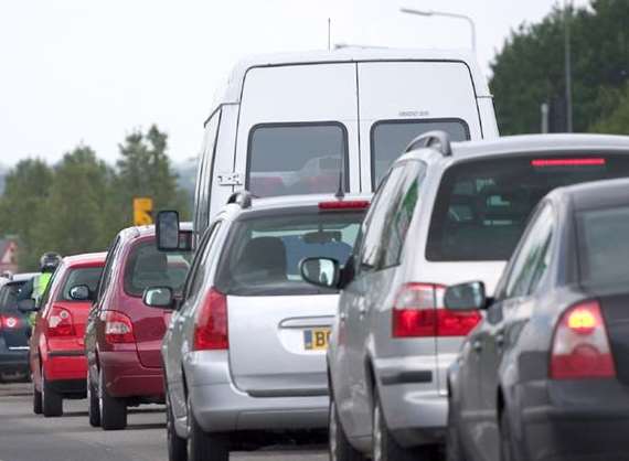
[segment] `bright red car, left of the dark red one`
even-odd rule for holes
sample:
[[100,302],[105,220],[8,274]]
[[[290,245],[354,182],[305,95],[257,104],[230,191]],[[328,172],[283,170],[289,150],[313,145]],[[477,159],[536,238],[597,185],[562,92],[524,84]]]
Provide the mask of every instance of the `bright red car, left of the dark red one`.
[[61,416],[64,398],[85,398],[85,323],[106,253],[68,256],[53,275],[30,343],[33,411]]

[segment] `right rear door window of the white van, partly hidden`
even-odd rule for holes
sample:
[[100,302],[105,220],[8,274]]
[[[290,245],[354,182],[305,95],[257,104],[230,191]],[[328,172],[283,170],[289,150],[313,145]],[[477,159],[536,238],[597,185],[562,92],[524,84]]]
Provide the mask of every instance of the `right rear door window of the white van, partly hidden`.
[[375,124],[371,132],[374,189],[411,141],[434,130],[446,131],[452,142],[470,139],[468,126],[463,120],[384,120]]

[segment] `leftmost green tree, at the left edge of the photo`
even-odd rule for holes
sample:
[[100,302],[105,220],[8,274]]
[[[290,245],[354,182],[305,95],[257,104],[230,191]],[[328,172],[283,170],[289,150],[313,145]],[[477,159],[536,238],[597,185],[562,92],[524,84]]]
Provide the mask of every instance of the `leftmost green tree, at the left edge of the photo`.
[[38,236],[34,223],[41,219],[53,182],[52,169],[40,159],[20,161],[8,174],[0,199],[0,232],[20,237],[20,266],[38,268]]

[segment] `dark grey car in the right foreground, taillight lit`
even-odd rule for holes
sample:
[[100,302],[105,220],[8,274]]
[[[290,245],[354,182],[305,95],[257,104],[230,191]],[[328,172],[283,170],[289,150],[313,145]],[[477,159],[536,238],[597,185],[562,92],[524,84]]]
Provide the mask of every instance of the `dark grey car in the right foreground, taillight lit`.
[[629,181],[550,193],[448,375],[448,459],[629,459]]

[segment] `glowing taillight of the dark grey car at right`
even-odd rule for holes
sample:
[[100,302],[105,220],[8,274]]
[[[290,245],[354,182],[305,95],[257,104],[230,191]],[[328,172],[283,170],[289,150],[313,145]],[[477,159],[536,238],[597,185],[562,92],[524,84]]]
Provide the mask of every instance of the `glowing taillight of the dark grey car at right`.
[[552,379],[611,378],[616,366],[598,301],[573,305],[553,337]]

